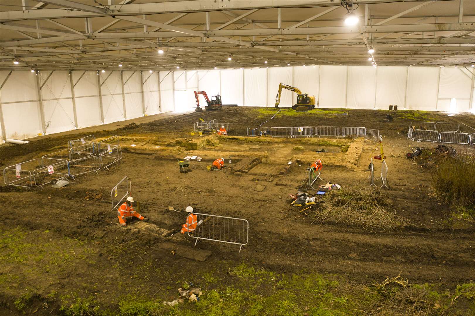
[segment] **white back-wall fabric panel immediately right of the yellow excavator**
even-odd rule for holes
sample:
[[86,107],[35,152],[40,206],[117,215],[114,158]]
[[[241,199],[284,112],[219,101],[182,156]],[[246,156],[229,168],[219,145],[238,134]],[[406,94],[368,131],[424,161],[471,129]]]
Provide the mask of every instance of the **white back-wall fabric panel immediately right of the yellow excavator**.
[[344,108],[347,66],[320,66],[321,108]]

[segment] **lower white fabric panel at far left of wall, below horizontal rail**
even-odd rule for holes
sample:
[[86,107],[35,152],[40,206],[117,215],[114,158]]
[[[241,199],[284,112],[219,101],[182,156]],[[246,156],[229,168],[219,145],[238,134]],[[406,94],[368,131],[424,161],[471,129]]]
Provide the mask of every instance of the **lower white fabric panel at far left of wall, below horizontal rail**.
[[43,131],[38,102],[2,104],[2,108],[7,138],[26,139]]

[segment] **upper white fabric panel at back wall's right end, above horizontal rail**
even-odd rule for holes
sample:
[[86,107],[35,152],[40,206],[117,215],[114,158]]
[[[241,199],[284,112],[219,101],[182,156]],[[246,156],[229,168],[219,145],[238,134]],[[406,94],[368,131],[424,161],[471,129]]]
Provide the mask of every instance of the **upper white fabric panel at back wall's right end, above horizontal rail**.
[[[460,67],[440,68],[439,99],[470,99],[472,74]],[[438,107],[437,107],[438,109]]]

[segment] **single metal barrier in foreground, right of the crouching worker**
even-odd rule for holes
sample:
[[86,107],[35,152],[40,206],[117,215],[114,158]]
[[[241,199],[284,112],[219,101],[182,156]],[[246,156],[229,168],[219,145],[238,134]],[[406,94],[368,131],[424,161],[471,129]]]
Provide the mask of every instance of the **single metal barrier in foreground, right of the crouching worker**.
[[[241,252],[242,246],[247,244],[249,240],[249,222],[247,220],[210,214],[192,214],[196,215],[198,224],[191,234],[188,232],[188,236],[196,238],[195,246],[199,239],[204,239],[240,245],[239,252]],[[188,214],[186,223],[188,228]]]

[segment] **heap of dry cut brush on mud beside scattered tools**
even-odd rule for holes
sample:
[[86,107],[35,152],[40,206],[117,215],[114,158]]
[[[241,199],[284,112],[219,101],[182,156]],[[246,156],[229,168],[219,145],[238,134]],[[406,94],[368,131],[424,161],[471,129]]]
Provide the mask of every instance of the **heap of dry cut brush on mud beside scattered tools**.
[[366,230],[394,230],[409,220],[390,210],[388,197],[372,187],[351,187],[326,194],[313,223],[339,223]]

